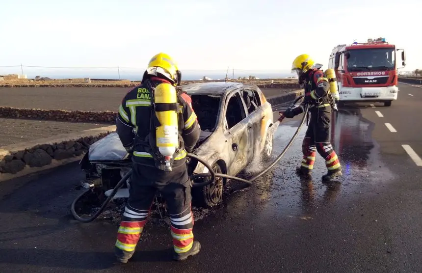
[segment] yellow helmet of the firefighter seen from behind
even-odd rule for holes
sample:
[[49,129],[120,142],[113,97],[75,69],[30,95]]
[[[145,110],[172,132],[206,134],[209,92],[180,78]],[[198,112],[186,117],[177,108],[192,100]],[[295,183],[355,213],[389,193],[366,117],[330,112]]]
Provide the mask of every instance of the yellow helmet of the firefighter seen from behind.
[[177,63],[165,53],[158,53],[151,58],[145,74],[164,77],[174,86],[179,85],[182,79]]

